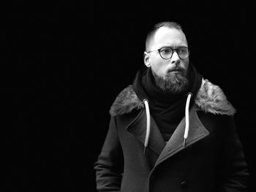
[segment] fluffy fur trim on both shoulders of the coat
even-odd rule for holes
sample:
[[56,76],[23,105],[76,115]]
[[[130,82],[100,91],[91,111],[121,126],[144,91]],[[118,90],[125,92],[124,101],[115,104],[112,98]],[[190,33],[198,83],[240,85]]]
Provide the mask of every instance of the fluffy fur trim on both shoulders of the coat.
[[[143,107],[143,102],[133,91],[132,85],[129,85],[116,97],[110,107],[110,115],[123,115]],[[204,79],[195,98],[195,109],[220,115],[234,115],[236,112],[232,104],[227,101],[222,89]]]

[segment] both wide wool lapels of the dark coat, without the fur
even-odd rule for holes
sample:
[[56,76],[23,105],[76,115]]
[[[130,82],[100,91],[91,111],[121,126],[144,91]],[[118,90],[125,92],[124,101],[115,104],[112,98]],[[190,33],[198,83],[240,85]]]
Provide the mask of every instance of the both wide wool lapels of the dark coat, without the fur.
[[[139,114],[127,125],[127,131],[132,133],[142,145],[144,145],[146,137],[146,111],[140,110]],[[157,123],[151,117],[151,132],[148,141],[148,148],[154,150],[159,154],[159,158],[155,166],[165,161],[167,158],[175,155],[186,147],[200,141],[208,136],[208,130],[200,122],[197,112],[194,108],[189,110],[189,136],[187,138],[186,146],[184,147],[184,131],[185,131],[185,118],[181,120],[178,127],[173,132],[172,137],[165,145],[165,140],[159,131]]]

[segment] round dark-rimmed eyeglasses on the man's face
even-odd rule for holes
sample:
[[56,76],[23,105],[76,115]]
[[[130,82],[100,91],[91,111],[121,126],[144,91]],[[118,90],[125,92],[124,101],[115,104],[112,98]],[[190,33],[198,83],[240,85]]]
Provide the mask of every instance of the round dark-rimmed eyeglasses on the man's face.
[[171,47],[162,47],[158,50],[148,51],[148,53],[151,53],[153,51],[158,51],[159,55],[163,59],[170,59],[173,56],[174,51],[176,51],[176,53],[178,54],[178,57],[181,59],[186,59],[189,57],[189,48],[188,47],[178,47],[176,49],[172,49]]

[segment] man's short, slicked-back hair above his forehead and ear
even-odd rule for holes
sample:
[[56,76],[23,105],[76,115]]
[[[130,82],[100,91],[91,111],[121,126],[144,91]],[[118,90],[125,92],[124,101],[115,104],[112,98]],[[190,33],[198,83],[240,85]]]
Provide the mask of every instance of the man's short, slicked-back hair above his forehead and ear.
[[148,32],[146,36],[146,52],[149,51],[149,46],[151,45],[154,35],[156,34],[157,30],[161,27],[176,28],[182,31],[181,25],[176,22],[162,21],[160,23],[155,24],[154,27],[151,29],[151,31]]

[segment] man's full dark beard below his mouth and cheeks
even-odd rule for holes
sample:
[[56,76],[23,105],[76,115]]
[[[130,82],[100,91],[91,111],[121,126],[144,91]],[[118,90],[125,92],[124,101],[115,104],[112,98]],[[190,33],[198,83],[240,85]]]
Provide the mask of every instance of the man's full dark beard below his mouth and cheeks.
[[165,93],[186,93],[189,90],[189,80],[187,78],[187,70],[180,69],[181,73],[168,73],[165,77],[160,77],[153,70],[152,74],[154,76],[154,80],[159,89],[164,91]]

